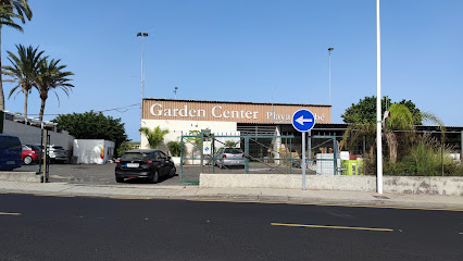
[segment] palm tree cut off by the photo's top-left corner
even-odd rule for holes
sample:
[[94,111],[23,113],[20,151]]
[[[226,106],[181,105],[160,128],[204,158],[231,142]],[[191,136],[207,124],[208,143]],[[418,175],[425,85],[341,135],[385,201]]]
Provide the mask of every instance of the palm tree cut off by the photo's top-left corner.
[[[20,32],[23,32],[23,27],[16,23],[16,20],[21,20],[24,24],[26,18],[30,21],[33,12],[27,3],[28,0],[0,0],[0,67],[1,67],[1,29],[3,26],[8,26]],[[3,82],[2,74],[0,73],[0,110],[4,111],[4,94],[3,94]]]

